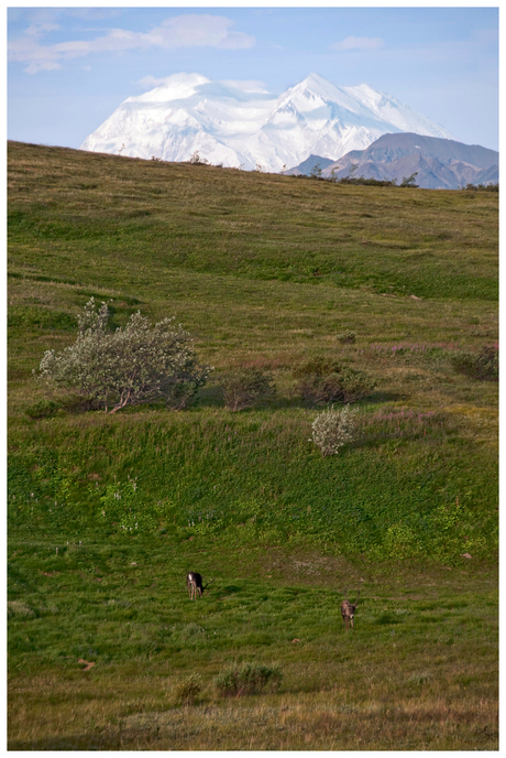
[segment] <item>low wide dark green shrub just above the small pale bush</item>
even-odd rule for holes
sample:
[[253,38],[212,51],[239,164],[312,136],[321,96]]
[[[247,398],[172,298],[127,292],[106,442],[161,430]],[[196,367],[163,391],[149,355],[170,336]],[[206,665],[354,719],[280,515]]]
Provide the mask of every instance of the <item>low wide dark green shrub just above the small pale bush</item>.
[[293,373],[300,378],[297,390],[301,398],[317,404],[356,402],[371,394],[375,386],[364,371],[341,368],[328,358],[312,358],[296,367]]

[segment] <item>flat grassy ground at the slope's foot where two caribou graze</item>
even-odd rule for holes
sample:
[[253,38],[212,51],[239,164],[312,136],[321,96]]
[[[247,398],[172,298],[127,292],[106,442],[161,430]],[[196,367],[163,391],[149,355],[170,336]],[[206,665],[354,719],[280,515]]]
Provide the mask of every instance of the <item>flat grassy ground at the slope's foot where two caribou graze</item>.
[[[240,532],[18,543],[33,615],[10,622],[11,749],[496,749],[494,571],[356,565]],[[215,583],[191,602],[195,565]],[[344,583],[362,587],[348,634]],[[279,690],[223,700],[233,662],[278,665]],[[182,708],[191,672],[202,691]]]

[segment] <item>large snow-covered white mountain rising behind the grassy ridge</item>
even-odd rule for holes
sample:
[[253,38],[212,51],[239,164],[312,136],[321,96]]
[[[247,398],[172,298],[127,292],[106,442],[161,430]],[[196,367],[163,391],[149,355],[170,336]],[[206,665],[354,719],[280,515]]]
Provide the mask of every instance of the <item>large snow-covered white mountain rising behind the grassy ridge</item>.
[[241,82],[175,74],[129,97],[81,150],[132,158],[282,171],[311,153],[338,160],[387,132],[452,139],[450,132],[389,95],[363,84],[338,87],[318,74],[279,97]]

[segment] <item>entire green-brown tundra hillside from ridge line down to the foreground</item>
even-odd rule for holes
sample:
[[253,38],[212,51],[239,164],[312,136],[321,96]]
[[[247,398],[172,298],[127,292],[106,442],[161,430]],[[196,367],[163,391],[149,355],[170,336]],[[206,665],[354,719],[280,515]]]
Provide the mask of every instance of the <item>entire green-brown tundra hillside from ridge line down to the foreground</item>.
[[[10,749],[497,749],[497,205],[9,144]],[[36,381],[91,297],[191,402]]]

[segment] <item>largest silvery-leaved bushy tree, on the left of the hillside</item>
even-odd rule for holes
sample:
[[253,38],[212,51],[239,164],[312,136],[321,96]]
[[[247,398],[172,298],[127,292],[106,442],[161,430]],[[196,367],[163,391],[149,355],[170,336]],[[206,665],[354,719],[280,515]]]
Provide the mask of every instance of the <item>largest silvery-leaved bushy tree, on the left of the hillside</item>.
[[91,297],[76,342],[62,353],[46,350],[40,380],[94,398],[109,413],[160,399],[180,408],[205,385],[210,368],[198,366],[189,334],[174,318],[152,327],[138,311],[114,332],[109,320],[107,303],[97,307]]

